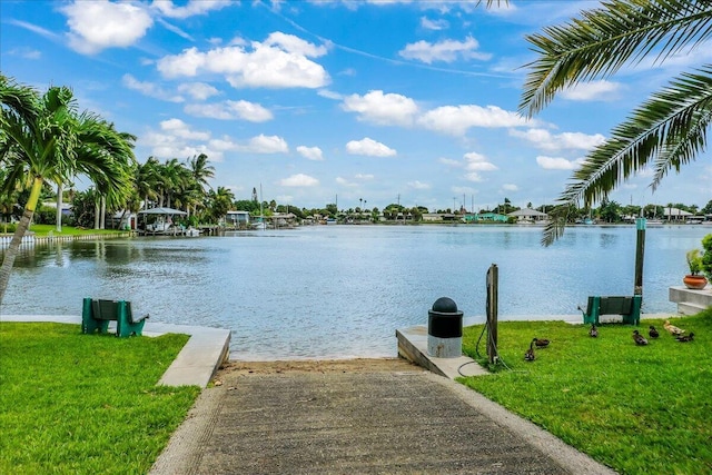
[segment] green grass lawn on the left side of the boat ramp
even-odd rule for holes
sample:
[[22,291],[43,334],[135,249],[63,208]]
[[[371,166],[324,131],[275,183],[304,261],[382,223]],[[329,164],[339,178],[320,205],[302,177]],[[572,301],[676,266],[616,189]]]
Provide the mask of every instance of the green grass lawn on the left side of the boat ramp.
[[200,392],[156,386],[187,340],[0,321],[0,473],[147,473]]

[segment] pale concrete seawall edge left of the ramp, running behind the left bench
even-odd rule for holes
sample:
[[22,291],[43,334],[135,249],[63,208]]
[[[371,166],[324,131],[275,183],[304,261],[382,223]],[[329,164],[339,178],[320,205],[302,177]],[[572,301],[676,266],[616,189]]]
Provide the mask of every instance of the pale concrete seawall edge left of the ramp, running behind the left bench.
[[[81,317],[72,315],[3,315],[0,320],[81,326]],[[229,356],[230,330],[152,321],[147,321],[144,326],[144,336],[147,337],[169,333],[188,335],[190,338],[180,349],[176,359],[168,366],[157,385],[207,387],[220,365]]]

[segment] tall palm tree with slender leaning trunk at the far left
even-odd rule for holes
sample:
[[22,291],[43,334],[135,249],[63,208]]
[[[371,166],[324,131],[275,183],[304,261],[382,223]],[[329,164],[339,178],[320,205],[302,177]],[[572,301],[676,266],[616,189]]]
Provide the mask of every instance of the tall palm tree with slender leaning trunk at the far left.
[[108,202],[118,202],[130,189],[135,162],[134,137],[90,112],[77,112],[69,88],[34,89],[0,75],[0,165],[8,175],[7,192],[18,184],[30,188],[22,218],[0,267],[0,305],[20,243],[34,214],[46,181],[69,182],[86,175]]

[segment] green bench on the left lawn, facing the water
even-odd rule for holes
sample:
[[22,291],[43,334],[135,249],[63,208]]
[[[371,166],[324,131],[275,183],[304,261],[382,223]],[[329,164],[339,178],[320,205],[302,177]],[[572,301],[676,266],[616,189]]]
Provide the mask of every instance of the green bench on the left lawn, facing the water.
[[131,303],[126,300],[83,299],[81,333],[108,333],[109,321],[116,321],[116,336],[140,336],[148,314],[134,317]]

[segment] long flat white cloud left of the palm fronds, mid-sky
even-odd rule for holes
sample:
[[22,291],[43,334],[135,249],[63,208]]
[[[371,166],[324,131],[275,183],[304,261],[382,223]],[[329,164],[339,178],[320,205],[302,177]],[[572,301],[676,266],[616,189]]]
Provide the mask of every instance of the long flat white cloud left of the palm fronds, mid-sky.
[[462,136],[471,127],[521,127],[532,122],[496,106],[443,106],[421,116],[418,123],[429,130]]

